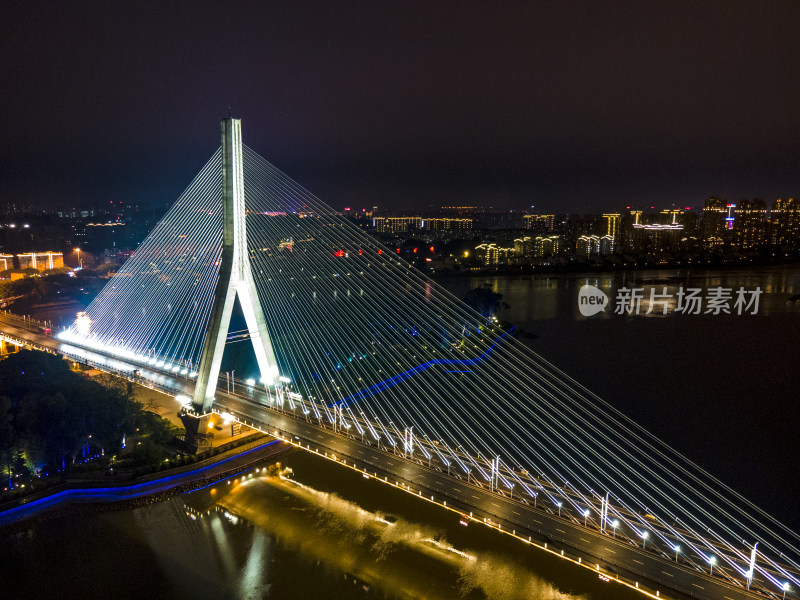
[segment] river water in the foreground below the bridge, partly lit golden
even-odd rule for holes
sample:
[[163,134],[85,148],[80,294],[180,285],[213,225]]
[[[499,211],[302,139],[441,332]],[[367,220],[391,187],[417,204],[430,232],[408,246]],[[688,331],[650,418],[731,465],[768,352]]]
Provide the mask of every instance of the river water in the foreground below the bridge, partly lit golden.
[[296,451],[283,461],[291,480],[251,472],[0,538],[3,597],[640,597],[325,459]]

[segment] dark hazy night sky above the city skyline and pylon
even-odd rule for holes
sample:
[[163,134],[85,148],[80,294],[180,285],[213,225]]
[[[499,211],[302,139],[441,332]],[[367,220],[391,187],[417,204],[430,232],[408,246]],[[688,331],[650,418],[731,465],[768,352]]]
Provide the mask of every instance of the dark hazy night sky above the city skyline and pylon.
[[0,202],[174,200],[232,107],[335,207],[800,194],[800,3],[6,2]]

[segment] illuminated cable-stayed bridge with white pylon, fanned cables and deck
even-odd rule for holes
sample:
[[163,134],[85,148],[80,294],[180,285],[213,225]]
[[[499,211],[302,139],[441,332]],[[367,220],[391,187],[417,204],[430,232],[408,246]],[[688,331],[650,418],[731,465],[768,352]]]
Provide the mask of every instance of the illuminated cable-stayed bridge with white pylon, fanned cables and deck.
[[[222,129],[60,351],[188,391],[197,431],[222,408],[699,598],[796,597],[800,536]],[[239,395],[231,339],[258,363]]]

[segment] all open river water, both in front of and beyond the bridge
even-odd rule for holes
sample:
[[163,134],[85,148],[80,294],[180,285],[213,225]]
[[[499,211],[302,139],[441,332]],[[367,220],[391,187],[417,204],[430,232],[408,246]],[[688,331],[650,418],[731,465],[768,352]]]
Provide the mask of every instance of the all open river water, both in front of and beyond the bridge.
[[[787,302],[800,293],[800,267],[443,283],[459,297],[488,283],[534,350],[800,529],[800,303]],[[587,283],[612,299],[591,317],[578,311]],[[620,315],[623,286],[764,293],[755,315]],[[327,461],[297,452],[285,462],[297,483],[256,474],[0,538],[0,597],[638,597]]]

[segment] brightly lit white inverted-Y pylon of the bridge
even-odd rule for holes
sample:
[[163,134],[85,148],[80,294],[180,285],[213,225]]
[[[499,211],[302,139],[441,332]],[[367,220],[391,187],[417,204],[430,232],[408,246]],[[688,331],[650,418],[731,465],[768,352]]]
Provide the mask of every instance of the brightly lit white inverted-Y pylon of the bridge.
[[192,400],[194,410],[201,414],[207,413],[214,401],[222,353],[237,295],[250,340],[253,342],[261,380],[265,384],[271,384],[278,378],[278,365],[253,281],[247,251],[242,121],[229,117],[222,120],[221,126],[222,257]]

